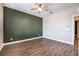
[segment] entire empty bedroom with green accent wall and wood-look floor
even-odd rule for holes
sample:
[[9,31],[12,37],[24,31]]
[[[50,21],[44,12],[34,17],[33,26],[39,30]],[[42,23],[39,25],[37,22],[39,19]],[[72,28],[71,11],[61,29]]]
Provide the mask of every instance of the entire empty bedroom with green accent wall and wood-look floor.
[[76,16],[79,3],[0,3],[0,56],[78,56]]

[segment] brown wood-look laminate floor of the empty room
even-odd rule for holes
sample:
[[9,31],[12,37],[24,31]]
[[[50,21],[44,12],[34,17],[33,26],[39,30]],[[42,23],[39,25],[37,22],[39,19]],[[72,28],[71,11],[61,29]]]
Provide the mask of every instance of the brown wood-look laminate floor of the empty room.
[[6,45],[1,56],[76,56],[77,50],[72,45],[45,38]]

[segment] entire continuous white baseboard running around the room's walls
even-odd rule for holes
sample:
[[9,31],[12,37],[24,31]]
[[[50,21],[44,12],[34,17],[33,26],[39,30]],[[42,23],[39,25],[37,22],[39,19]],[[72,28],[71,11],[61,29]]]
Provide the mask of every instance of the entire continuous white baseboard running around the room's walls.
[[4,44],[1,46],[0,50],[1,50],[1,49],[3,48],[3,46],[5,46],[5,45],[10,45],[10,44],[20,43],[20,42],[24,42],[24,41],[35,40],[35,39],[39,39],[39,38],[47,38],[47,39],[51,39],[51,40],[55,40],[55,41],[59,41],[59,42],[63,42],[63,43],[66,43],[66,44],[73,45],[71,42],[66,42],[66,41],[62,41],[62,40],[59,40],[59,39],[54,39],[54,38],[50,38],[50,37],[40,36],[40,37],[34,37],[34,38],[29,38],[29,39],[24,39],[24,40],[19,40],[19,41],[4,43]]

